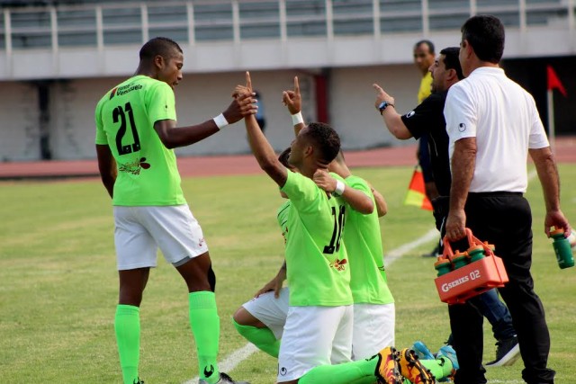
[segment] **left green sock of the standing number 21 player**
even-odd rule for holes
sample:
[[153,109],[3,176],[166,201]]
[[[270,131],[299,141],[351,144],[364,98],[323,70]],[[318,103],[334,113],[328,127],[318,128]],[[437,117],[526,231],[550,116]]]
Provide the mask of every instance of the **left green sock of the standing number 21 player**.
[[139,382],[140,358],[140,308],[119,304],[114,317],[116,344],[124,384]]

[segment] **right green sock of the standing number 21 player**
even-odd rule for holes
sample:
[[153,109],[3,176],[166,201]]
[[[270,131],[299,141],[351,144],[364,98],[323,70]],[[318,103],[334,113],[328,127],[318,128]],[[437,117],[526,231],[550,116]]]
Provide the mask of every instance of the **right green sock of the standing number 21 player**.
[[218,371],[218,342],[220,317],[216,309],[214,292],[198,291],[188,295],[190,303],[190,326],[198,351],[198,375],[200,379],[214,384],[220,380]]

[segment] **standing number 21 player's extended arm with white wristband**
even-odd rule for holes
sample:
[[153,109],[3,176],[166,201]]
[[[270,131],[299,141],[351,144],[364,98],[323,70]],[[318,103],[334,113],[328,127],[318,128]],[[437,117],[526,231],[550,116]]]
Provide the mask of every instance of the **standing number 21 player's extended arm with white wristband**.
[[176,128],[176,121],[161,120],[154,123],[154,129],[167,148],[189,146],[210,137],[228,124],[233,124],[246,116],[254,116],[257,107],[253,96],[254,94],[242,94],[234,97],[232,103],[220,116],[198,125]]

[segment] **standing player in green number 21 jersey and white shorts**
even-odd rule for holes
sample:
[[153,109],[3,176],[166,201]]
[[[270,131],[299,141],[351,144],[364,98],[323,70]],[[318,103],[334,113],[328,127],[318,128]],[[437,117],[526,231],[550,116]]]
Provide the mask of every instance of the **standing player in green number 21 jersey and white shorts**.
[[202,228],[180,186],[174,147],[191,145],[254,114],[251,94],[201,124],[176,128],[175,85],[184,56],[173,40],[155,38],[139,51],[136,74],[103,95],[96,106],[96,154],[112,197],[120,294],[114,329],[124,384],[139,380],[139,306],[157,247],[188,288],[190,326],[200,383],[233,383],[218,369],[220,318],[216,282]]

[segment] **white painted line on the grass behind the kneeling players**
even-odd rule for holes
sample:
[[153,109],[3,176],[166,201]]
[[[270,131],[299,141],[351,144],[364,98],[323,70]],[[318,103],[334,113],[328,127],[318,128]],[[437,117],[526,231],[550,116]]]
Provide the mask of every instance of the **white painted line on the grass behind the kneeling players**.
[[[384,263],[386,267],[389,267],[401,256],[408,254],[412,249],[422,244],[428,243],[429,241],[434,240],[435,238],[439,238],[439,236],[440,234],[436,229],[430,229],[424,236],[419,237],[417,240],[412,241],[403,246],[400,246],[396,249],[392,249],[392,251],[387,256],[384,257]],[[223,362],[218,362],[218,369],[223,372],[233,371],[234,368],[236,368],[240,362],[245,361],[252,353],[257,352],[257,350],[258,349],[254,344],[248,343],[244,345],[242,348],[231,353]],[[196,384],[198,382],[198,379],[199,378],[196,376],[192,380],[184,381],[183,384]]]

